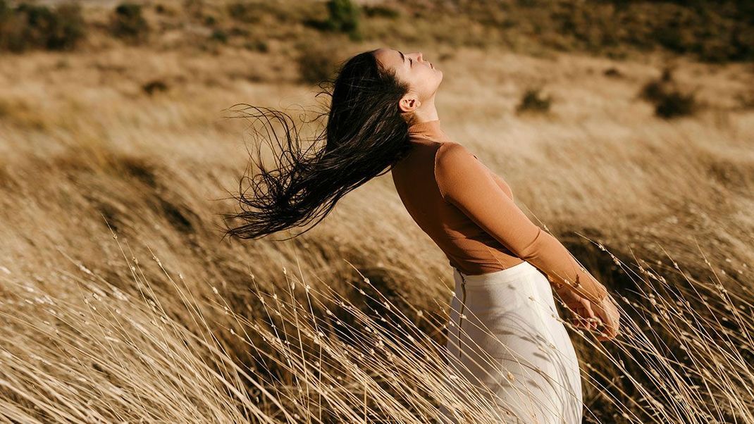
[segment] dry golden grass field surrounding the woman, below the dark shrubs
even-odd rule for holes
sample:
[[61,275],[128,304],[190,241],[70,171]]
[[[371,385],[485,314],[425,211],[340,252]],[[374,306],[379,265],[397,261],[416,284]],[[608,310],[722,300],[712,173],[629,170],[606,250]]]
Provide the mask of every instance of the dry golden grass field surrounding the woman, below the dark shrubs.
[[[160,2],[118,38],[83,5],[78,47],[0,52],[2,422],[495,422],[443,386],[451,269],[389,174],[297,238],[222,239],[258,142],[237,104],[318,111],[317,58],[381,46],[443,69],[443,130],[618,301],[615,341],[569,327],[585,422],[754,422],[751,63],[389,8],[349,36],[302,24],[322,2]],[[667,87],[688,113],[655,113]]]

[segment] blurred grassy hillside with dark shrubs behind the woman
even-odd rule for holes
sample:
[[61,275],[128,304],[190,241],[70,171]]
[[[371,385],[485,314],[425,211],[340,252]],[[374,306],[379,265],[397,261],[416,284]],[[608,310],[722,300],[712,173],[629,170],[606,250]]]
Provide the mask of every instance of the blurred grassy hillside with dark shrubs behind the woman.
[[[641,292],[605,248],[636,268],[724,278],[751,298],[754,2],[0,0],[0,347],[14,369],[30,369],[32,352],[57,368],[77,355],[52,349],[71,321],[34,297],[70,312],[105,286],[160,298],[197,334],[204,325],[176,285],[197,304],[222,294],[253,322],[263,307],[250,288],[285,288],[292,270],[345,296],[354,284],[379,290],[442,322],[452,269],[389,173],[297,238],[222,239],[256,143],[236,105],[326,110],[317,84],[378,47],[421,51],[443,70],[446,134],[611,291]],[[221,328],[233,319],[211,319],[227,355],[253,364]],[[100,346],[84,328],[77,337]],[[10,387],[31,383],[10,369],[0,398],[24,410]],[[598,390],[585,391],[618,422]]]

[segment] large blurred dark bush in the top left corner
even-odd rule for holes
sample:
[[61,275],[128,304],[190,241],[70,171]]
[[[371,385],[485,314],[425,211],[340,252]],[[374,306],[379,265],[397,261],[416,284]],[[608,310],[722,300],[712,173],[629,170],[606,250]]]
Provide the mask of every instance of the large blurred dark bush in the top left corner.
[[11,9],[5,0],[0,0],[0,50],[73,50],[85,35],[78,3],[63,3],[54,10],[21,3]]

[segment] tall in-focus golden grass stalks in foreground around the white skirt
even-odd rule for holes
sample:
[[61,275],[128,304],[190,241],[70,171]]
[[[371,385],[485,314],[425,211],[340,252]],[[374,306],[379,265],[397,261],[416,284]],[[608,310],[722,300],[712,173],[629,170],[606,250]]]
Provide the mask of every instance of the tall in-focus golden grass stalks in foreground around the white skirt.
[[[258,302],[248,316],[220,289],[171,273],[156,256],[162,273],[146,276],[113,234],[133,294],[82,264],[38,282],[2,269],[6,419],[434,422],[440,405],[464,422],[502,414],[443,361],[437,336],[446,314],[399,305],[361,273],[345,292],[300,268],[283,268],[277,288],[260,287],[250,273]],[[720,279],[703,282],[679,267],[634,272],[605,256],[640,291],[616,297],[623,318],[615,343],[596,343],[564,322],[590,351],[581,368],[596,399],[585,416],[752,422],[751,302]],[[51,282],[69,285],[66,294],[50,294],[60,289],[45,289]],[[446,297],[434,297],[440,310],[449,308]]]

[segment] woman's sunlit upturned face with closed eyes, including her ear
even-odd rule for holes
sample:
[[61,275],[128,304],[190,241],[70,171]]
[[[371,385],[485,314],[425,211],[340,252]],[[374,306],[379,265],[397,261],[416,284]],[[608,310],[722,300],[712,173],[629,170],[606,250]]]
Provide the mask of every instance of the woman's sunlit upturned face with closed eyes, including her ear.
[[421,52],[403,53],[399,50],[380,48],[375,50],[374,54],[383,67],[394,69],[397,78],[409,84],[409,93],[400,101],[403,111],[412,111],[421,103],[434,99],[434,93],[443,81],[443,72],[425,60]]

